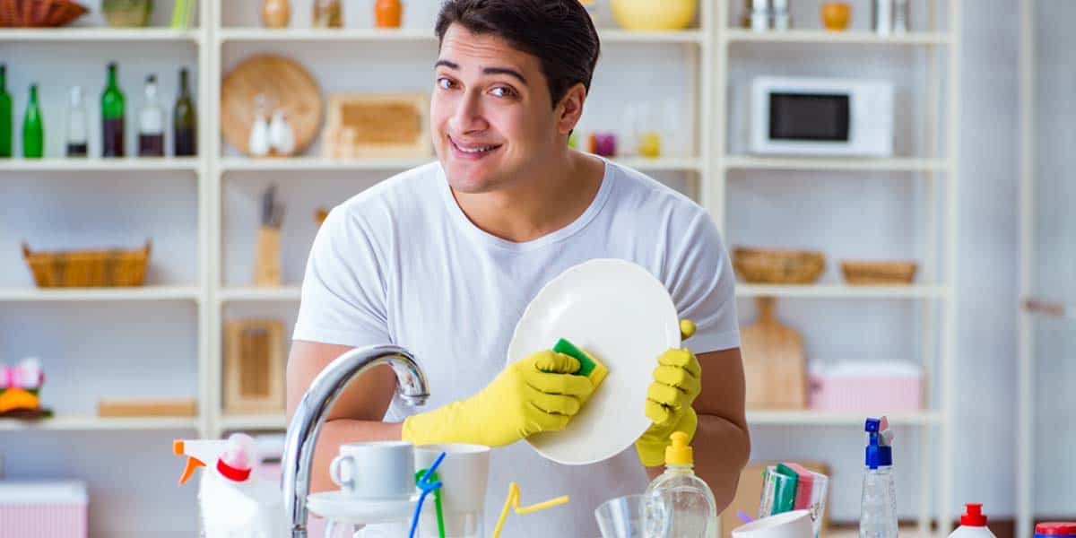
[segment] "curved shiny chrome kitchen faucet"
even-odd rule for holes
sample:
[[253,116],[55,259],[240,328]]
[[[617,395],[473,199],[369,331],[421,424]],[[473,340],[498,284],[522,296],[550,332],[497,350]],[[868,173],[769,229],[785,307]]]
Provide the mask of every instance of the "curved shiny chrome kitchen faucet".
[[426,374],[410,352],[397,345],[371,345],[351,350],[314,378],[287,426],[283,455],[284,506],[292,519],[292,538],[307,538],[307,495],[314,445],[322,424],[337,397],[352,379],[378,365],[388,365],[405,401],[422,406],[429,397]]

